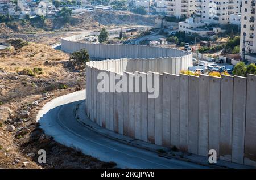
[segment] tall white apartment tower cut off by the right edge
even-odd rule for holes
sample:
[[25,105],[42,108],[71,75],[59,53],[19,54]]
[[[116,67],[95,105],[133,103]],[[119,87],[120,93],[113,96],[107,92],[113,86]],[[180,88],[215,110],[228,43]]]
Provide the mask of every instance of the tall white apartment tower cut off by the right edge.
[[255,0],[242,2],[240,54],[249,63],[256,63]]

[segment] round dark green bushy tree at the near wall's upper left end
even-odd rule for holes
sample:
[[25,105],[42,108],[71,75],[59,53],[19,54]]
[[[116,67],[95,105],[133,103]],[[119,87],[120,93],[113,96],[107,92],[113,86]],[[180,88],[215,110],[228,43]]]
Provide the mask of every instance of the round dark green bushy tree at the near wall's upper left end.
[[71,61],[73,66],[77,66],[79,69],[84,69],[86,62],[90,61],[90,57],[86,49],[81,49],[77,52],[73,52],[69,61]]

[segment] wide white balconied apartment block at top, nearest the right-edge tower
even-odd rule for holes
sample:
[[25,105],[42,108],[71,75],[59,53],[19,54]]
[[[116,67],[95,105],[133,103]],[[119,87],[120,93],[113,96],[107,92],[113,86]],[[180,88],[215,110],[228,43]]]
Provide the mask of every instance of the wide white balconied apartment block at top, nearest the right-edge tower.
[[196,15],[201,16],[203,22],[213,24],[228,24],[231,14],[241,12],[242,0],[198,0]]

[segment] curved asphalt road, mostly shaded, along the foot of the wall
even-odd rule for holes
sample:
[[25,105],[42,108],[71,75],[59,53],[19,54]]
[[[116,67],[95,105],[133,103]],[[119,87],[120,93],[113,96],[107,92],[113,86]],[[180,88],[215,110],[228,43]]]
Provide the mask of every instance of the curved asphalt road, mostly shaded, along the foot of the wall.
[[101,161],[114,161],[119,168],[205,168],[176,159],[159,157],[156,153],[116,142],[82,126],[75,117],[85,91],[55,98],[40,111],[37,121],[46,134],[69,147],[81,149]]

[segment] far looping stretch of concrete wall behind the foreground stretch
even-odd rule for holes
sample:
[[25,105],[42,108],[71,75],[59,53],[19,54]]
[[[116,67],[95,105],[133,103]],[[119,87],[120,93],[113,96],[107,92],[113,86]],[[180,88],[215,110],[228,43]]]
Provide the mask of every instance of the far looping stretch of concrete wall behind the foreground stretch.
[[[76,38],[81,37],[82,36]],[[148,67],[147,70],[145,68],[145,72],[154,71],[162,73],[165,71],[178,74],[181,70],[187,70],[187,68],[193,64],[192,53],[184,52],[183,50],[139,45],[88,44],[72,41],[76,38],[72,37],[68,38],[68,40],[62,39],[61,49],[68,53],[86,49],[93,59],[128,58],[130,60],[147,59],[147,62],[150,60],[154,61],[152,63],[154,63],[155,65],[153,66],[156,67]]]

